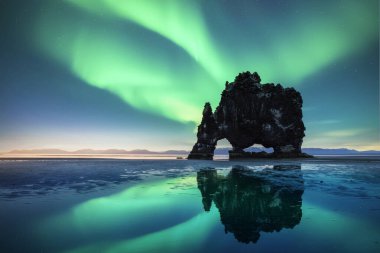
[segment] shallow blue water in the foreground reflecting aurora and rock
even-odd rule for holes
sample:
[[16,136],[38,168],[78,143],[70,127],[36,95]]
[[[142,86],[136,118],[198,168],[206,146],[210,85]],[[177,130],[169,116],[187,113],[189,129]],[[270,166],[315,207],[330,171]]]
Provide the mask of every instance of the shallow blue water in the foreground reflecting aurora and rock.
[[380,252],[378,160],[0,161],[1,252]]

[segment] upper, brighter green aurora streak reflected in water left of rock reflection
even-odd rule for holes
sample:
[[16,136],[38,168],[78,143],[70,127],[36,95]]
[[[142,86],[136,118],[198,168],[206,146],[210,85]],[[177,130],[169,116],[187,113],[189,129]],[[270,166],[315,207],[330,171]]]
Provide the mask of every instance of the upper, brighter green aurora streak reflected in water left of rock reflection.
[[[173,189],[173,186],[176,188]],[[133,230],[141,222],[154,224],[155,219],[170,215],[176,209],[186,209],[190,218],[202,210],[199,196],[184,199],[181,194],[193,191],[195,187],[194,177],[139,184],[117,194],[81,203],[67,214],[49,220],[47,226],[56,226],[65,220],[64,228],[70,230],[90,232],[97,229],[105,232],[123,224],[128,224],[129,229]],[[151,210],[155,210],[154,216]]]

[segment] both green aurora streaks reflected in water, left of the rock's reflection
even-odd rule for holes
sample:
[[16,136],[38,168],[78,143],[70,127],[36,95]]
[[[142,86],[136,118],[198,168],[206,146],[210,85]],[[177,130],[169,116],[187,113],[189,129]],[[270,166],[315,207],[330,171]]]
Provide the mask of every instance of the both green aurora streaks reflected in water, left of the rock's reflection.
[[[126,239],[111,239],[110,242],[105,236],[99,243],[69,252],[149,252],[153,249],[179,252],[184,246],[196,249],[218,221],[215,210],[211,213],[203,211],[196,187],[195,177],[141,183],[116,194],[91,199],[63,214],[50,217],[39,231],[46,240],[54,243],[54,239],[72,231],[87,235],[99,232],[112,235],[112,231],[120,227],[133,232],[141,226],[149,231],[149,226],[152,226],[150,233],[139,237],[128,239],[128,232],[124,232]],[[167,220],[170,224],[173,213],[181,213],[182,221],[156,231],[157,221]],[[46,231],[55,233],[46,235]],[[189,234],[193,234],[191,238]]]

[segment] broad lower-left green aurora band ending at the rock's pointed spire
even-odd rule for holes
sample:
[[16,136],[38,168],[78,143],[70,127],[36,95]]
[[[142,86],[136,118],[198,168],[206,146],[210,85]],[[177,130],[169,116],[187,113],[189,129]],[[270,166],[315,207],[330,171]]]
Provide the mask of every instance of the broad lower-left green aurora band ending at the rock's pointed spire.
[[48,26],[39,30],[38,43],[86,83],[114,93],[135,108],[197,122],[204,101],[216,99],[219,88],[207,75],[201,71],[176,75],[164,53],[139,48],[118,31],[76,26],[65,34],[60,41],[56,27]]

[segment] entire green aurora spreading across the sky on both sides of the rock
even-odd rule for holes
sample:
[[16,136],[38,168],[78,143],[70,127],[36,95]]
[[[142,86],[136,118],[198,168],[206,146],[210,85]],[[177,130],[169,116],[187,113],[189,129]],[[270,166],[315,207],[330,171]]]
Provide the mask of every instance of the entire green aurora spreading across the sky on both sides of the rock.
[[[66,4],[73,7],[70,19],[49,14],[56,11],[41,13],[35,26],[38,48],[85,83],[139,110],[183,123],[198,123],[204,102],[215,106],[224,82],[238,72],[255,70],[264,82],[300,85],[306,77],[365,48],[378,35],[371,22],[375,12],[360,1],[346,1],[344,9],[332,2],[323,19],[312,11],[295,15],[280,24],[281,29],[257,8],[248,20],[249,28],[226,31],[226,37],[236,37],[240,43],[230,47],[216,42],[203,1],[68,0]],[[96,25],[88,21],[94,19]],[[263,31],[270,33],[255,37]],[[147,43],[141,34],[161,40]],[[352,39],[352,34],[358,36]],[[264,40],[265,48],[255,39]]]

